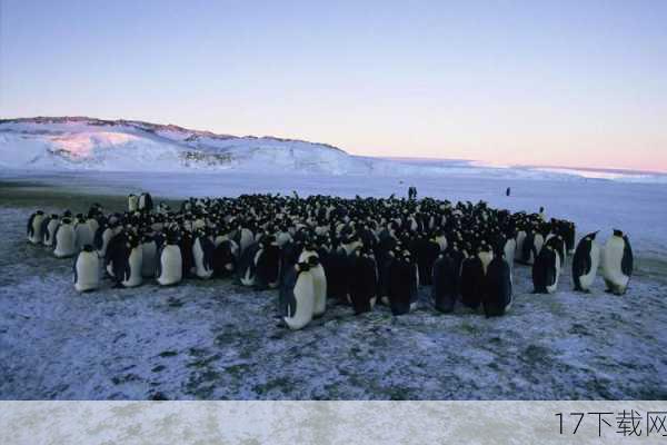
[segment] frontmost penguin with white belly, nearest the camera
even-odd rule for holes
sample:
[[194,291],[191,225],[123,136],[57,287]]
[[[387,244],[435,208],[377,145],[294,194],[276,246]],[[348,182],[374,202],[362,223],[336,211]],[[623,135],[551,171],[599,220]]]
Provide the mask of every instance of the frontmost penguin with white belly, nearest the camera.
[[312,320],[315,284],[310,266],[298,263],[285,275],[280,287],[282,319],[290,329],[301,329]]

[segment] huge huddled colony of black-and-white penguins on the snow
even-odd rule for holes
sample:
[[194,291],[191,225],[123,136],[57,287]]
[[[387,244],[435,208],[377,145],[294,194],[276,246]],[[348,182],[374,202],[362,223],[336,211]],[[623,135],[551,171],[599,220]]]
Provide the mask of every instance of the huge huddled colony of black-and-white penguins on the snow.
[[601,264],[607,291],[623,295],[633,273],[628,237],[619,230],[604,248],[596,234],[575,249],[575,224],[539,214],[492,209],[484,201],[424,198],[344,199],[243,195],[190,198],[179,209],[153,207],[149,194],[130,195],[128,210],[87,215],[31,215],[28,241],[76,257],[78,291],[146,279],[160,286],[187,278],[232,277],[242,286],[278,289],[285,324],[300,329],[321,316],[328,299],[355,314],[376,304],[394,315],[417,304],[420,286],[431,287],[437,310],[457,301],[500,316],[511,305],[515,263],[532,268],[536,294],[556,291],[568,254],[574,288],[589,291]]

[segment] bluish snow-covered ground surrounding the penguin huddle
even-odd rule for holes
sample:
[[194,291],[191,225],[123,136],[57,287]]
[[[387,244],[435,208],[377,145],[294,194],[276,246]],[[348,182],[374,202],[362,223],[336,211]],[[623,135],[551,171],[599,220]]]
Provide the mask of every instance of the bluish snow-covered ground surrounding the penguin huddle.
[[[465,167],[464,167],[465,168]],[[329,306],[301,332],[277,326],[273,291],[226,280],[146,284],[78,295],[71,260],[24,243],[37,207],[78,210],[129,191],[157,197],[282,192],[485,199],[575,220],[579,235],[613,227],[633,240],[637,268],[624,297],[531,295],[516,269],[509,315],[419,309],[355,317]],[[506,197],[506,187],[512,196]],[[159,198],[158,198],[159,199]],[[22,172],[0,175],[1,398],[667,398],[667,186],[577,178]]]

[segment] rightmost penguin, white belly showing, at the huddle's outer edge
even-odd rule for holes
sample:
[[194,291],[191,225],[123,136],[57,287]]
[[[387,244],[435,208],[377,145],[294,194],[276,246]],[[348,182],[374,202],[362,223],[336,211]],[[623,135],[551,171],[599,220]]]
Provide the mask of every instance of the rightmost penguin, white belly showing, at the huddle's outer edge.
[[630,240],[623,231],[614,230],[614,235],[607,240],[603,250],[603,276],[607,291],[624,295],[628,288],[633,268],[634,256]]

